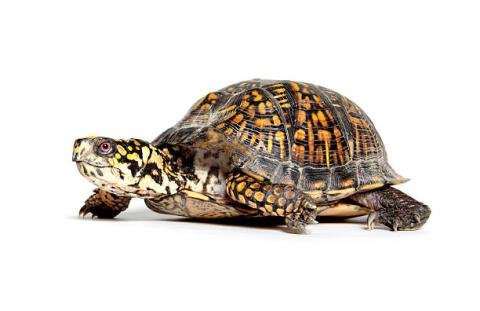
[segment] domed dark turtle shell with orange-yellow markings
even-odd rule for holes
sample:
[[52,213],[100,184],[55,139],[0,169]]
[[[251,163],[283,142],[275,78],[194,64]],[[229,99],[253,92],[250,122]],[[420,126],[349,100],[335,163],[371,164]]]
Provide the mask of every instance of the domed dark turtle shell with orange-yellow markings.
[[327,200],[406,181],[368,116],[309,83],[255,79],[209,93],[153,143],[227,149],[236,167]]

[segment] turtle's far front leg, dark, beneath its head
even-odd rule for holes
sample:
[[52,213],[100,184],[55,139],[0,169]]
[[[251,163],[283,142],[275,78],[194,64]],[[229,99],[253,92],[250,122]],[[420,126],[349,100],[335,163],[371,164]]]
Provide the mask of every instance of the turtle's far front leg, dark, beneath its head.
[[79,215],[85,217],[92,214],[98,218],[114,218],[128,208],[130,197],[122,197],[101,189],[95,189],[85,205],[80,209]]

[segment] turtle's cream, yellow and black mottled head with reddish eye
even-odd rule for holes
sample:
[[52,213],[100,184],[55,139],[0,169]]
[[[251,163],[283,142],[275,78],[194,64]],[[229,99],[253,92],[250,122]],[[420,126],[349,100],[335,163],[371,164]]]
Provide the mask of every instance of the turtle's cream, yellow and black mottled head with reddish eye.
[[148,198],[178,188],[168,155],[140,139],[77,139],[72,160],[90,182],[118,195]]

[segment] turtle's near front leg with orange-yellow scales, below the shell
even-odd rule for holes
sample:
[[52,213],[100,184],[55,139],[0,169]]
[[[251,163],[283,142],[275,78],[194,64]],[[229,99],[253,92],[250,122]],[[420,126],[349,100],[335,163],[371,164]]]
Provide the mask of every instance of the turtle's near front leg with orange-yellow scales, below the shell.
[[290,233],[305,233],[306,224],[316,223],[316,205],[294,186],[272,184],[241,171],[231,173],[226,182],[231,199],[264,215],[284,217]]

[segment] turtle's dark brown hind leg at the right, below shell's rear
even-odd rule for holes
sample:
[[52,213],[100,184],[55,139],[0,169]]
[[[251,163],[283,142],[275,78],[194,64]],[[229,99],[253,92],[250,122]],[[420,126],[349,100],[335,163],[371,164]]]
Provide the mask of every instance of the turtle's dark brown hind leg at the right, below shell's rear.
[[394,231],[417,230],[431,213],[427,205],[392,187],[357,193],[351,198],[371,209],[367,221],[369,229],[381,223]]

